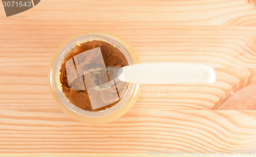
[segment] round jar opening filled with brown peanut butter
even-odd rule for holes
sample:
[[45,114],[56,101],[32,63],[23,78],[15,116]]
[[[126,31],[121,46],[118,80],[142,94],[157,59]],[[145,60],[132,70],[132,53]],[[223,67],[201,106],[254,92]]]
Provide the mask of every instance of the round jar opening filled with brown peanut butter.
[[[69,50],[61,64],[62,92],[82,110],[109,109],[121,100],[128,87],[113,77],[115,71],[110,67],[126,65],[129,64],[125,56],[116,46],[100,40],[80,42]],[[102,88],[95,88],[100,87],[95,84]]]

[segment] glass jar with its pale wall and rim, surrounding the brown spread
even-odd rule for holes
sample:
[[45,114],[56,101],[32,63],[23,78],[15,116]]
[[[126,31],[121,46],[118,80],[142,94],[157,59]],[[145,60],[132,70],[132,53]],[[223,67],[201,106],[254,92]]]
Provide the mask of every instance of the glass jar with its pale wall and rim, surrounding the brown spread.
[[120,37],[105,32],[83,32],[72,36],[57,49],[50,64],[49,85],[58,107],[68,116],[80,122],[106,123],[121,117],[132,108],[139,96],[140,85],[130,83],[123,98],[109,109],[86,111],[74,106],[62,92],[60,67],[72,47],[76,46],[77,43],[93,40],[104,41],[117,47],[123,53],[129,65],[140,63],[138,55],[132,46]]

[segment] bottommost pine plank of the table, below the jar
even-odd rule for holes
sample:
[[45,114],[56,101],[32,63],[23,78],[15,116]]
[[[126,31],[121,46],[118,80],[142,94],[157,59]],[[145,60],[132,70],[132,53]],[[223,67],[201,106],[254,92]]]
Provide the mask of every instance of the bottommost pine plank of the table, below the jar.
[[255,149],[254,111],[138,110],[100,125],[58,109],[2,109],[2,152],[220,151]]

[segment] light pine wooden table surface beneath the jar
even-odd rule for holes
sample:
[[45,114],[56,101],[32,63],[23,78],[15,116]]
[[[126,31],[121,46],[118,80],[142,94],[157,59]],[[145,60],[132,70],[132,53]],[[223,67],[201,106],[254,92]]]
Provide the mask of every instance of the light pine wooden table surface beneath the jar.
[[[44,0],[10,17],[1,5],[0,152],[132,156],[166,149],[255,150],[254,5],[253,0]],[[101,125],[77,122],[54,102],[48,70],[63,41],[90,30],[123,37],[141,62],[212,65],[217,82],[153,86],[186,92],[148,90],[118,120]]]

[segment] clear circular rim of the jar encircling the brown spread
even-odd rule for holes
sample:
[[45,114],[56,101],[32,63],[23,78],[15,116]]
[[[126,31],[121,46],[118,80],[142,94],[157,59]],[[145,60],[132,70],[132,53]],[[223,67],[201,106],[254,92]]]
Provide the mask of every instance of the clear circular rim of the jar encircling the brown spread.
[[63,59],[65,58],[69,50],[73,48],[75,45],[79,43],[87,42],[87,41],[94,41],[94,40],[104,41],[117,47],[126,58],[128,64],[129,65],[134,64],[134,60],[129,50],[127,49],[130,47],[125,47],[124,43],[122,43],[122,40],[118,39],[116,36],[112,36],[110,34],[105,34],[102,32],[84,33],[78,36],[73,36],[71,39],[67,40],[66,44],[62,45],[60,50],[56,52],[57,56],[56,56],[56,59],[53,61],[54,64],[53,64],[53,67],[51,68],[52,71],[50,72],[50,75],[51,75],[50,84],[53,90],[56,92],[58,99],[70,111],[75,112],[82,116],[100,117],[100,116],[111,114],[113,112],[116,112],[118,109],[120,109],[129,100],[129,98],[135,94],[134,91],[136,87],[138,88],[139,86],[136,86],[136,84],[129,84],[123,98],[118,103],[116,103],[113,107],[109,109],[105,109],[101,111],[87,111],[87,110],[80,109],[67,99],[67,97],[62,92],[62,87],[59,79],[59,75],[60,75],[59,70],[63,62]]

